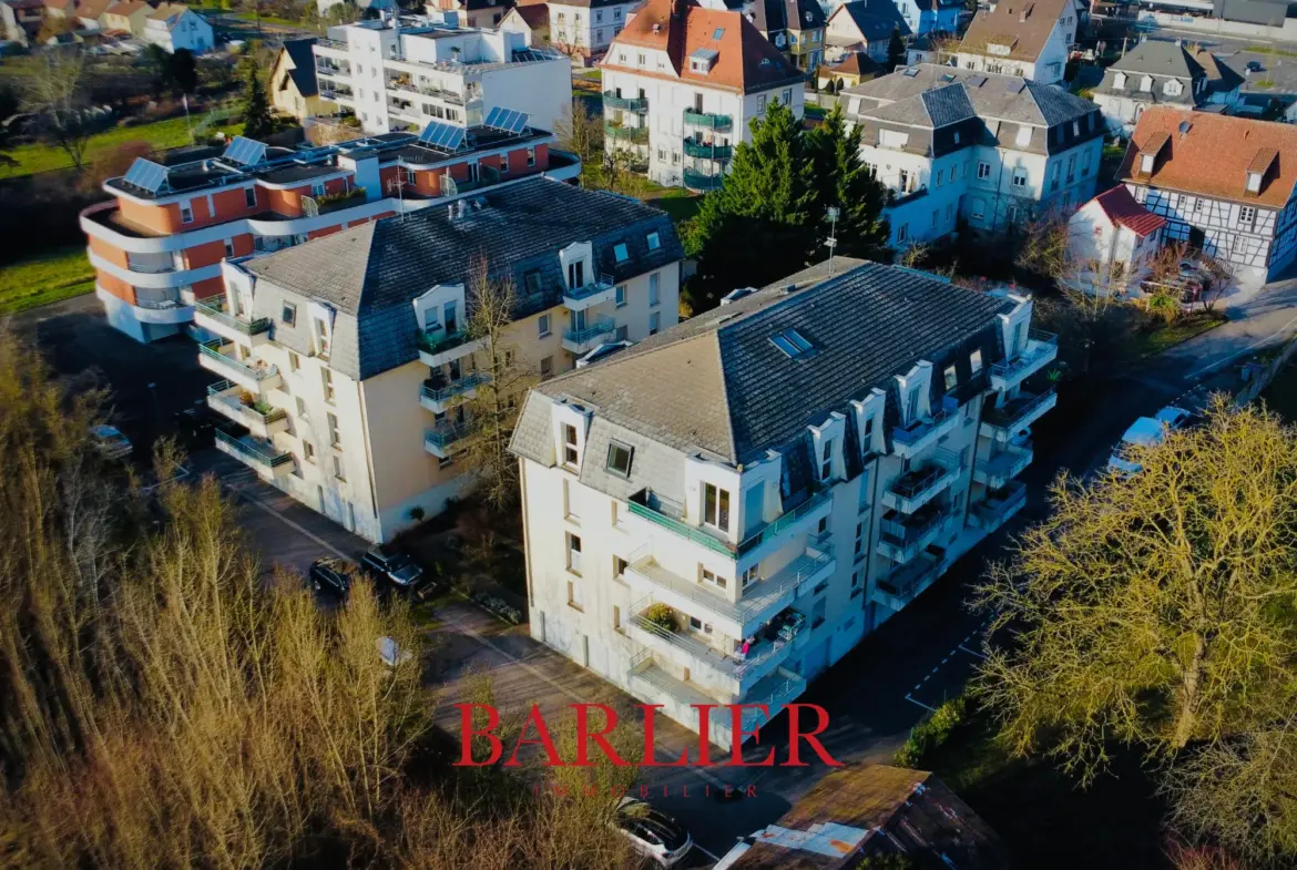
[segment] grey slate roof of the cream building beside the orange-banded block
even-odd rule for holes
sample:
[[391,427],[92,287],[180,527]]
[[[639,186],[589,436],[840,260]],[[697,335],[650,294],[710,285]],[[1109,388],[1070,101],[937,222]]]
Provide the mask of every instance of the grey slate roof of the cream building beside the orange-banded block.
[[[298,315],[296,328],[285,325],[283,302],[291,296],[332,306],[329,363],[363,380],[418,359],[411,302],[437,284],[467,284],[479,258],[493,277],[512,279],[518,318],[559,305],[558,252],[573,242],[591,242],[595,270],[616,280],[684,258],[665,213],[612,193],[532,178],[464,201],[462,218],[432,206],[248,261],[244,268],[258,279],[256,316],[271,319],[276,341],[310,353],[306,318]],[[651,232],[659,237],[656,250],[648,250]],[[623,263],[613,253],[619,242],[629,253]]]

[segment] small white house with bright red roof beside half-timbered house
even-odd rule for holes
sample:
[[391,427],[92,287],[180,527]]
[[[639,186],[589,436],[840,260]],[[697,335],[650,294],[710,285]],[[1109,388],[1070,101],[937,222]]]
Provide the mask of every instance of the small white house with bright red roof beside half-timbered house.
[[1127,289],[1161,246],[1166,218],[1149,213],[1118,184],[1080,206],[1067,222],[1067,255],[1080,289]]

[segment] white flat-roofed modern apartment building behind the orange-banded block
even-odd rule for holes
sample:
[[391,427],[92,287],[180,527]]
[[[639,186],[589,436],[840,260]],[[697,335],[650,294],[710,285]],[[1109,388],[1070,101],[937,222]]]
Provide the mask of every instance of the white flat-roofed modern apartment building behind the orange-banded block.
[[546,130],[572,105],[572,64],[511,30],[466,30],[428,18],[329,27],[313,47],[320,95],[368,134],[473,127],[492,109],[525,112]]

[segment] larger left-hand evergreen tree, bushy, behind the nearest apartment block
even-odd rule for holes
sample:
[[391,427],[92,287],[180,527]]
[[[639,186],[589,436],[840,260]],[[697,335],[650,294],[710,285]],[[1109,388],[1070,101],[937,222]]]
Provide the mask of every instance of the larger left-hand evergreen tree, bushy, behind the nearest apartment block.
[[686,248],[698,257],[687,300],[694,311],[795,272],[815,254],[816,189],[802,122],[773,101],[751,131],[752,141],[734,149],[725,183],[707,194],[686,232]]

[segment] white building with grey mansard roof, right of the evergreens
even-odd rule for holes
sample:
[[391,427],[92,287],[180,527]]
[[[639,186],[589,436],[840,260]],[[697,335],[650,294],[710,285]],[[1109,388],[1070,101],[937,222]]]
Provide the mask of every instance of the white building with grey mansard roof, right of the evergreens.
[[1095,194],[1099,106],[1016,75],[922,64],[843,93],[860,154],[892,191],[892,245],[926,242],[960,219],[1000,232]]

